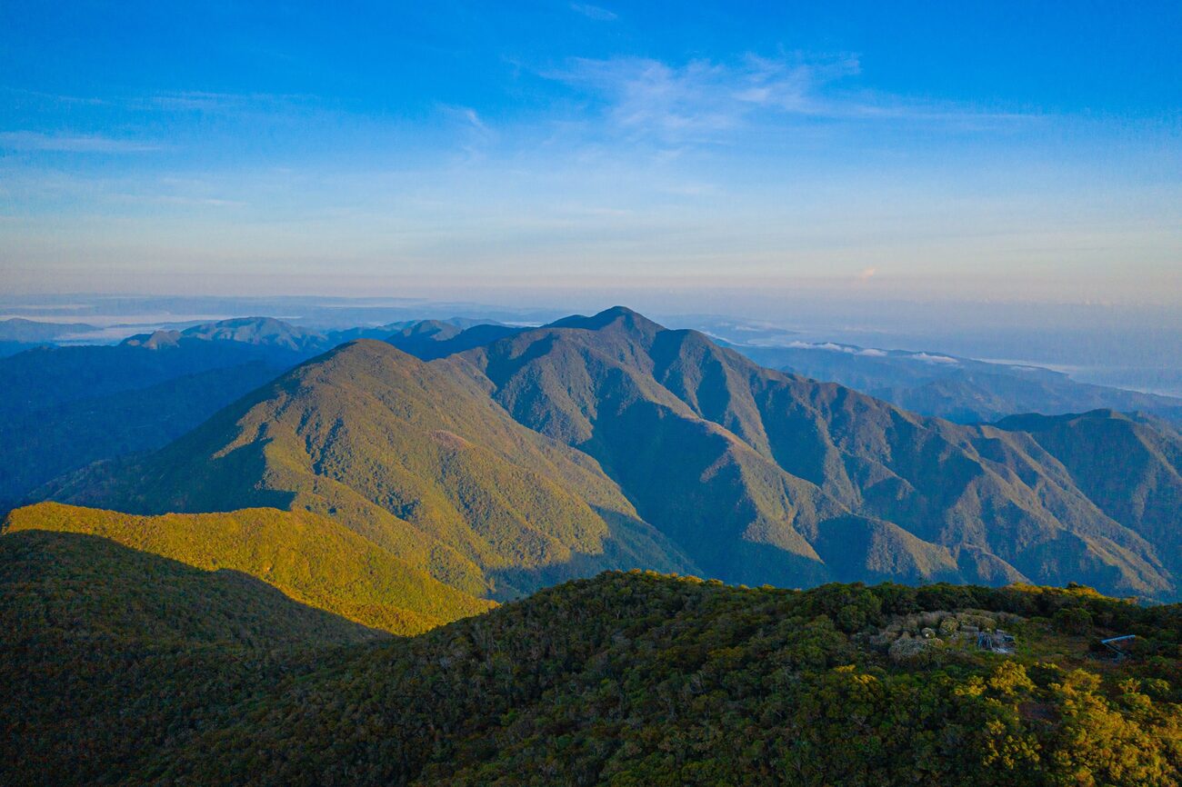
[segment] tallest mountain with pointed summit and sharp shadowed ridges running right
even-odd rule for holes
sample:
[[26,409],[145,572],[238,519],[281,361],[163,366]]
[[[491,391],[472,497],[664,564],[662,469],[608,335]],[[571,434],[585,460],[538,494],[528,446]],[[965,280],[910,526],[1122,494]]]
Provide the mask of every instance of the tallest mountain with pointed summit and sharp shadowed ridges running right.
[[[460,358],[519,422],[595,457],[712,577],[1178,592],[1182,557],[1160,527],[1136,512],[1112,519],[1020,431],[764,369],[623,307]],[[1108,471],[1119,477],[1123,458]]]

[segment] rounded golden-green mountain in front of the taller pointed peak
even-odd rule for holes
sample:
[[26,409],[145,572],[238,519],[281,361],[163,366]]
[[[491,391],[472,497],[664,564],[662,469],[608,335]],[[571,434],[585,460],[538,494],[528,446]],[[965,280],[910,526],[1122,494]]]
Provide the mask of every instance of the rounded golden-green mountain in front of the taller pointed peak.
[[467,369],[372,340],[288,372],[143,460],[64,480],[53,496],[138,514],[313,512],[491,598],[603,568],[693,568],[595,461],[514,422]]

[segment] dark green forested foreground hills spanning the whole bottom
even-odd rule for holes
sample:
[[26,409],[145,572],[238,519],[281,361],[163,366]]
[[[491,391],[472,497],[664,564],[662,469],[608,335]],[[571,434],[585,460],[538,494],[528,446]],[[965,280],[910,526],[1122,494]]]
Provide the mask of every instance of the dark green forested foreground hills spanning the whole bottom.
[[[1182,778],[1178,606],[1085,588],[798,592],[608,573],[346,645],[364,632],[228,572],[56,533],[11,533],[0,549],[15,632],[0,653],[14,689],[0,701],[4,783]],[[1017,653],[978,650],[961,636],[970,624],[1005,626]],[[1112,633],[1138,636],[1131,658],[1093,652]]]

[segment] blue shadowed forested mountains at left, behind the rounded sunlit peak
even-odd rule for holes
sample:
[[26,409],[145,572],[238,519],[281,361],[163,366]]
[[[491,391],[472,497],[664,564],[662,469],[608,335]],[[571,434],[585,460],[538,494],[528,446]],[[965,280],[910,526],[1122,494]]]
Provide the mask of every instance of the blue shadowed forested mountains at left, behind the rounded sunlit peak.
[[0,515],[64,473],[161,448],[346,340],[385,339],[437,358],[518,330],[429,320],[320,333],[252,317],[0,358],[0,444],[9,447],[0,457]]

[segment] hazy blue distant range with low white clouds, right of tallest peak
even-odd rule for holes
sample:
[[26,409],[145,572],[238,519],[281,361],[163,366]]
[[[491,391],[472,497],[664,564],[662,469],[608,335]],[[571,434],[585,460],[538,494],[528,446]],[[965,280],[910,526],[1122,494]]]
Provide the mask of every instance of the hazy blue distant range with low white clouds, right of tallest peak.
[[1136,410],[1182,422],[1182,399],[1176,397],[1079,383],[1039,366],[831,342],[729,346],[765,366],[840,383],[905,410],[959,423],[1024,412],[1064,415],[1099,409]]

